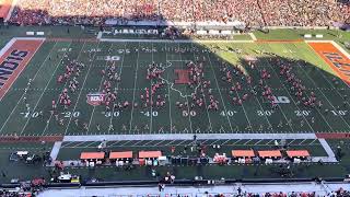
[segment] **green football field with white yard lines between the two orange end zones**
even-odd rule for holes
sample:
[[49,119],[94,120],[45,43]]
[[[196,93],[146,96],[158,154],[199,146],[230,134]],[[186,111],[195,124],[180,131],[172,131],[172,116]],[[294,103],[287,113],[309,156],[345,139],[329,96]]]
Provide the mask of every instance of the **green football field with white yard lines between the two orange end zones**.
[[[83,65],[79,76],[58,82],[72,60]],[[295,95],[279,63],[292,68],[302,96]],[[147,79],[153,67],[161,74]],[[205,83],[189,85],[195,67],[202,69]],[[108,79],[112,68],[118,80]],[[269,77],[260,84],[265,73]],[[0,102],[0,135],[348,132],[350,91],[338,76],[304,42],[47,39]],[[72,92],[73,79],[78,85]],[[161,85],[152,93],[156,83]],[[59,102],[65,89],[71,101],[67,107]],[[106,89],[116,95],[108,108],[105,100],[89,102],[92,94],[105,97]],[[316,101],[305,104],[313,96]]]

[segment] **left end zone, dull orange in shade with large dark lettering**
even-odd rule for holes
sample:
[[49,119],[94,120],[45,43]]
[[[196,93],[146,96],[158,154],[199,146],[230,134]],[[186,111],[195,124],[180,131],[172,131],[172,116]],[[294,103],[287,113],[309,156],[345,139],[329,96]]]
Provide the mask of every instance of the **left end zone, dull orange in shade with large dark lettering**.
[[24,70],[44,39],[16,39],[0,57],[0,101]]

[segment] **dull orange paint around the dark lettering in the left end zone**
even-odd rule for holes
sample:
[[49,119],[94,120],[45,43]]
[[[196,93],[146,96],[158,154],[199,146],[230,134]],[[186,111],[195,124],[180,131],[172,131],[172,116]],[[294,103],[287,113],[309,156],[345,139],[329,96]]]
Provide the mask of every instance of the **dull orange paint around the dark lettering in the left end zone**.
[[[40,45],[44,43],[44,40],[40,39],[32,39],[32,40],[15,40],[12,46],[0,57],[0,63],[4,62],[8,57],[11,56],[11,53],[16,49],[21,51],[27,51],[28,54],[23,58],[22,61],[19,62],[18,68],[13,71],[13,73],[9,77],[7,81],[3,81],[0,79],[0,82],[4,83],[0,88],[0,101],[5,95],[5,93],[9,91],[11,85],[14,83],[14,81],[18,79],[18,77],[21,74],[21,72],[24,70],[26,65],[30,62],[32,57],[34,56],[35,51],[40,47]],[[1,65],[0,65],[1,68]]]

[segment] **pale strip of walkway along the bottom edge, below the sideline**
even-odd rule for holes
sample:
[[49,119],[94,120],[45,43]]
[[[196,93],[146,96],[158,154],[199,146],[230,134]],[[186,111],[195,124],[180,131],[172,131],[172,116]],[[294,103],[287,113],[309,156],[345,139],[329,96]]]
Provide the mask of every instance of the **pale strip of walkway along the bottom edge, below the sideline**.
[[[77,189],[48,189],[39,194],[38,197],[56,197],[56,196],[128,196],[128,197],[196,197],[196,196],[215,196],[223,194],[223,196],[238,195],[238,188],[242,189],[243,196],[245,193],[253,193],[262,195],[265,193],[280,194],[281,192],[290,196],[292,193],[301,196],[301,194],[315,193],[316,196],[328,196],[329,192],[338,190],[339,188],[350,190],[349,183],[322,183],[303,182],[303,183],[271,183],[271,184],[241,184],[233,185],[209,185],[201,187],[186,187],[186,186],[165,186],[163,192],[159,192],[155,186],[137,186],[137,187],[115,187],[115,188],[77,188]],[[118,195],[116,195],[118,194]]]

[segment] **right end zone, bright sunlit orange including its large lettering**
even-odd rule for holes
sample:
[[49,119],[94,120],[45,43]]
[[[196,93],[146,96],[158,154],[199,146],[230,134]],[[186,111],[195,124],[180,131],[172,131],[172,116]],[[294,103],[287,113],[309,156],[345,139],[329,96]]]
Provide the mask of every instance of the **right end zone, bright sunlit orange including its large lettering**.
[[308,43],[338,77],[350,85],[350,59],[331,43]]

